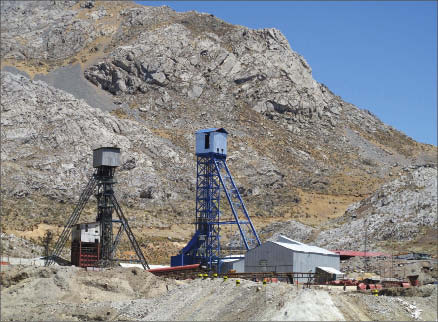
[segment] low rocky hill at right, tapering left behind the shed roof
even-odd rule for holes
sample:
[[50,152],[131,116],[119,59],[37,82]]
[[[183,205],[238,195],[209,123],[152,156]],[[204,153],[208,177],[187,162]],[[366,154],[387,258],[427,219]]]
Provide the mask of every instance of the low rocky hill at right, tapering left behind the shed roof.
[[434,253],[437,232],[437,167],[410,166],[400,177],[345,214],[314,228],[296,221],[272,223],[261,230],[270,239],[286,235],[328,249],[395,250]]

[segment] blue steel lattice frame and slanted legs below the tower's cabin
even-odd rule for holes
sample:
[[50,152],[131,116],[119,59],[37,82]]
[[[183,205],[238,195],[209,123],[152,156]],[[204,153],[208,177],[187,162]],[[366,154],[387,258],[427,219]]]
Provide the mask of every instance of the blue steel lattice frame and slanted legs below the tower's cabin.
[[[232,212],[230,220],[221,218],[222,191]],[[198,154],[195,235],[181,251],[181,256],[187,256],[190,262],[202,262],[209,267],[224,258],[221,225],[238,227],[245,248],[243,251],[260,245],[260,239],[226,164],[226,156],[216,153]],[[188,262],[187,259],[185,262]]]

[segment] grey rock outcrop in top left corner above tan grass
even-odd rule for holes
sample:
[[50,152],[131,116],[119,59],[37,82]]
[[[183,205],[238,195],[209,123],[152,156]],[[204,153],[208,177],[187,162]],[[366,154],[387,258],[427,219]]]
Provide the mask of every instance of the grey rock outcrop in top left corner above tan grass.
[[85,48],[101,31],[76,18],[73,6],[77,2],[2,1],[2,59],[39,60],[42,64],[43,60],[70,58]]

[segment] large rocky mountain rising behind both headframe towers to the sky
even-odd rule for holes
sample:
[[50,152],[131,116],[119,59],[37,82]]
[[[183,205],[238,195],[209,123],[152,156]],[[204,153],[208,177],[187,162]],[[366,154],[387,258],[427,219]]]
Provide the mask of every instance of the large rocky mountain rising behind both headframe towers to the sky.
[[317,226],[403,167],[437,161],[436,147],[316,82],[279,30],[131,2],[1,6],[5,230],[62,225],[91,149],[115,144],[119,199],[146,240],[174,251],[192,232],[194,132],[206,127],[230,132],[259,228]]

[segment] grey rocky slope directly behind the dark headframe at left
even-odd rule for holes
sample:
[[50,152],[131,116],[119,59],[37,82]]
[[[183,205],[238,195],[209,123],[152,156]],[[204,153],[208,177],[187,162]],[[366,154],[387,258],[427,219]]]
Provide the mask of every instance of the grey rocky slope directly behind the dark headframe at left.
[[178,172],[179,180],[193,184],[182,171],[189,159],[181,148],[137,122],[91,108],[45,82],[7,72],[1,90],[4,196],[77,200],[92,173],[90,152],[101,146],[123,151],[118,180],[125,202],[141,207],[148,199],[177,198],[177,185],[166,189],[164,181]]

